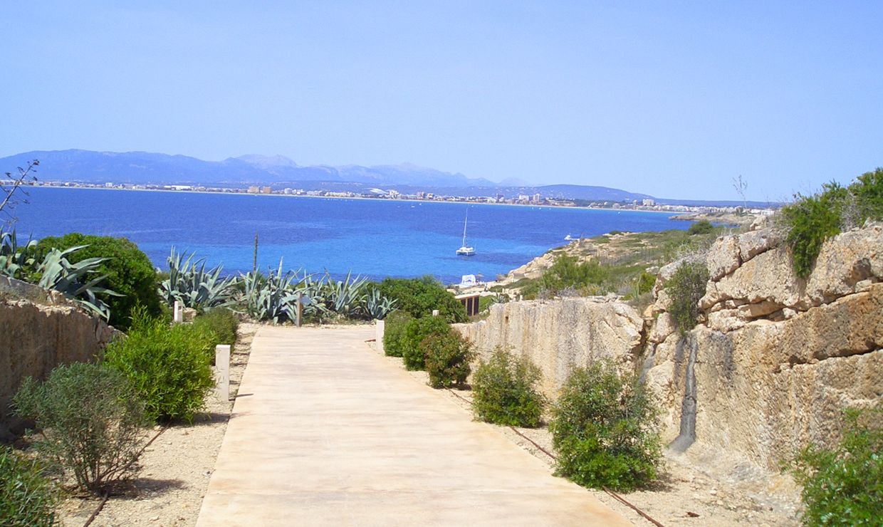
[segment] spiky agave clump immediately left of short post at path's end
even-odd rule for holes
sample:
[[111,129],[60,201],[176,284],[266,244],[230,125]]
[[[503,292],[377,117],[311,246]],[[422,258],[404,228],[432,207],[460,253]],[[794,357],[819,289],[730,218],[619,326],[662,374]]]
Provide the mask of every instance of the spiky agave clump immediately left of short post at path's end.
[[293,320],[298,302],[298,292],[293,282],[297,273],[283,274],[282,260],[278,271],[270,269],[267,275],[253,271],[242,275],[245,312],[256,320],[273,320],[275,324]]

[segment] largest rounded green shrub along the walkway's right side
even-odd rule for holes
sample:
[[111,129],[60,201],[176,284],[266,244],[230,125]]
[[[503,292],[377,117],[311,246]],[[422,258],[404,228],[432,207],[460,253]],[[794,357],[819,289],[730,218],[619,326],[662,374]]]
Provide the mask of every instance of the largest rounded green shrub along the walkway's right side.
[[630,491],[660,465],[658,410],[634,373],[607,361],[577,368],[552,410],[558,472],[581,486]]

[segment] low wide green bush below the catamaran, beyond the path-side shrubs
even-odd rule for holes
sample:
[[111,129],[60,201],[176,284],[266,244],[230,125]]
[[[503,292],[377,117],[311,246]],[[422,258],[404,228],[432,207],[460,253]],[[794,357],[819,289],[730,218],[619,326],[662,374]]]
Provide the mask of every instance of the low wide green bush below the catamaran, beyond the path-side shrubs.
[[396,302],[397,309],[419,319],[429,316],[433,310],[451,323],[468,320],[466,309],[440,282],[432,276],[423,278],[387,278],[377,287],[383,297]]

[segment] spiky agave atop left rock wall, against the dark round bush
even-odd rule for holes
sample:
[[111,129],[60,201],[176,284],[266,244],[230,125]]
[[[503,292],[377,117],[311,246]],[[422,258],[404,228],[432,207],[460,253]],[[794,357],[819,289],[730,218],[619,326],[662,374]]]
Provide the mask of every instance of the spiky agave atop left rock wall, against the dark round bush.
[[48,290],[57,290],[64,294],[65,297],[72,299],[79,305],[82,305],[87,311],[109,320],[110,310],[101,298],[97,295],[111,295],[119,297],[118,293],[98,287],[98,283],[104,280],[105,275],[91,276],[96,274],[98,267],[105,258],[87,258],[76,263],[67,260],[67,256],[73,252],[87,247],[87,245],[78,245],[59,251],[52,249],[46,254],[37,271],[41,274],[40,287]]

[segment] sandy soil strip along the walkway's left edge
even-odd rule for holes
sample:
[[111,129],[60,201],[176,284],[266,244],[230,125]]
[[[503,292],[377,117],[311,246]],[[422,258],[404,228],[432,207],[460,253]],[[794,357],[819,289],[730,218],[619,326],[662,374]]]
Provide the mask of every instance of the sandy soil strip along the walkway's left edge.
[[[238,343],[230,356],[230,401],[222,403],[209,395],[205,411],[192,425],[157,426],[150,431],[148,438],[160,434],[140,458],[139,477],[109,498],[92,525],[196,523],[258,327],[247,323],[239,326]],[[67,498],[59,508],[61,524],[83,525],[100,502],[95,498]]]

